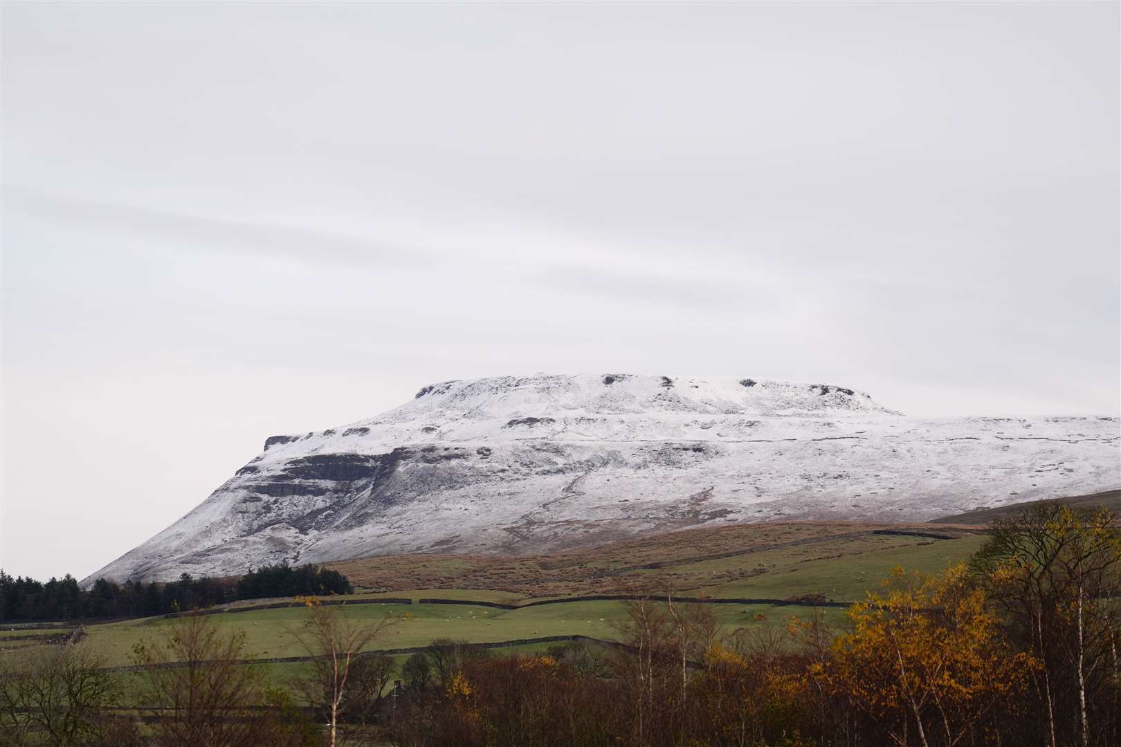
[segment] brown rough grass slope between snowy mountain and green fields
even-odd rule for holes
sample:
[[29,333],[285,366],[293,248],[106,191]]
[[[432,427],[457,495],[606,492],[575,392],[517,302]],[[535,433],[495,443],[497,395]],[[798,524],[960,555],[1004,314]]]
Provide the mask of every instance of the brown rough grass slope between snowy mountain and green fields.
[[[862,522],[780,522],[732,524],[692,529],[656,536],[614,542],[599,548],[540,555],[380,555],[328,563],[345,573],[355,587],[400,592],[409,589],[472,590],[504,599],[567,597],[589,594],[634,594],[664,590],[671,585],[678,591],[710,587],[753,588],[789,572],[786,564],[831,559],[841,568],[856,562],[855,572],[890,568],[872,557],[902,551],[929,542],[957,542],[907,535],[874,534],[877,531],[935,532],[945,536],[969,538],[970,531],[927,524],[872,524]],[[946,545],[941,552],[960,557],[973,551],[973,544]],[[955,548],[951,550],[951,548]],[[898,554],[898,552],[897,552]],[[937,553],[936,553],[937,554]],[[887,558],[887,554],[882,555]],[[928,564],[925,553],[919,562]],[[870,564],[869,562],[870,561]],[[835,566],[837,563],[833,563]],[[868,564],[868,568],[864,567]],[[824,568],[823,568],[824,570]],[[806,576],[806,575],[804,575]],[[836,583],[807,588],[802,581],[797,592],[830,594]],[[855,577],[854,577],[855,578]],[[779,598],[786,580],[771,580],[769,588]],[[859,596],[860,583],[841,588]],[[446,590],[446,591],[445,591]],[[743,596],[735,592],[736,596]],[[836,594],[843,594],[837,591]],[[430,596],[437,596],[435,594]],[[845,598],[843,596],[837,598]]]

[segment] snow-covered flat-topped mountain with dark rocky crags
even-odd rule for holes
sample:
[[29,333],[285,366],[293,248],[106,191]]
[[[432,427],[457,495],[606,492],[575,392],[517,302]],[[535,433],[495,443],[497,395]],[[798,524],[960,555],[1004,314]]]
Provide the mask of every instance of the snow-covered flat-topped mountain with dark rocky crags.
[[920,521],[1121,486],[1117,417],[918,420],[832,384],[628,374],[450,381],[274,436],[92,575],[538,552],[705,522]]

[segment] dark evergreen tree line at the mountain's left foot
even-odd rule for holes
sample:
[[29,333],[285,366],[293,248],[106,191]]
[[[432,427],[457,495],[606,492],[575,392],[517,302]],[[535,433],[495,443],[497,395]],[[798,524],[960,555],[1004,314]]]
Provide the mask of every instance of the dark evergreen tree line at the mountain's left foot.
[[183,573],[166,583],[100,578],[89,589],[67,573],[37,581],[0,570],[0,623],[34,623],[104,617],[145,617],[187,611],[239,599],[350,594],[350,580],[339,571],[314,566],[263,566],[239,579],[194,578]]

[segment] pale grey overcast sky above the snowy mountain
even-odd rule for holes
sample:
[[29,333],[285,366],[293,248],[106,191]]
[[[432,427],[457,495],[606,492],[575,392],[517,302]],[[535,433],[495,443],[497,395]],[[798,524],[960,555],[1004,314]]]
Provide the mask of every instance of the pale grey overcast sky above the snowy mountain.
[[1119,6],[3,4],[2,545],[510,373],[1121,411]]

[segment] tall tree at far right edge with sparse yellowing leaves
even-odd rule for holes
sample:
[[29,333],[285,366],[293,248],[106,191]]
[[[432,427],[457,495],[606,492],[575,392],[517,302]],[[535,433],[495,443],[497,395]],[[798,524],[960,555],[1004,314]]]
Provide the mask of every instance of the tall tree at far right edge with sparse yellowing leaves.
[[1121,527],[1105,508],[1029,505],[989,529],[971,566],[1008,636],[1041,666],[1031,726],[1046,743],[1121,737]]

